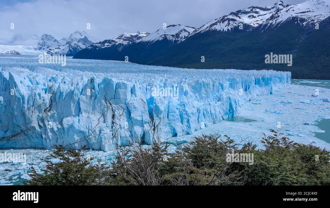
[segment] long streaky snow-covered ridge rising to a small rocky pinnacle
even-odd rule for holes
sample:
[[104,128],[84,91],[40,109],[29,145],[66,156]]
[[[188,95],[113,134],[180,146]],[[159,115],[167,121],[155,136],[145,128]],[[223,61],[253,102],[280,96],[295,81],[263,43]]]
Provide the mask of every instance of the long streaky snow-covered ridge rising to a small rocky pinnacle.
[[288,5],[284,5],[283,1],[278,1],[270,7],[248,7],[238,10],[206,23],[202,27],[198,28],[198,30],[194,31],[191,35],[212,30],[217,30],[220,32],[230,31],[241,24],[243,24],[243,29],[250,30],[251,28],[263,23],[273,13],[285,8],[286,6]]

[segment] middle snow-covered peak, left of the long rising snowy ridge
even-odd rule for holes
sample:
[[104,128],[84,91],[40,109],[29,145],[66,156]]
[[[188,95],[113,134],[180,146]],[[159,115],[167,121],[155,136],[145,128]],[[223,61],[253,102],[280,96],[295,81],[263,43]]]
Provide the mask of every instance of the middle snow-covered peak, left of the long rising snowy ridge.
[[195,27],[183,26],[183,25],[169,25],[164,28],[158,29],[153,33],[150,33],[148,36],[137,40],[136,42],[155,42],[157,40],[168,39],[172,43],[179,42],[189,34],[191,34]]

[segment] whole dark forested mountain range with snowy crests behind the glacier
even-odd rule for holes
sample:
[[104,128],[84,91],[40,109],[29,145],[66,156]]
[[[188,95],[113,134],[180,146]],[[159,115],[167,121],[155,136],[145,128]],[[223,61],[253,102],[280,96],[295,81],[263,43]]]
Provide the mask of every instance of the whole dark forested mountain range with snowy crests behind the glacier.
[[[194,28],[169,25],[91,44],[74,58],[184,68],[276,69],[293,78],[330,79],[330,0],[248,7]],[[267,54],[292,54],[293,64],[265,64]],[[205,62],[201,62],[204,57]]]

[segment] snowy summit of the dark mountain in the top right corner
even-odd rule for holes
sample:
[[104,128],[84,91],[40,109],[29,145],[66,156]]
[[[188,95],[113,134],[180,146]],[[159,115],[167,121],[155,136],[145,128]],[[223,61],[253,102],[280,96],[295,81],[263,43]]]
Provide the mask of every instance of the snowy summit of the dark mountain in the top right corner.
[[330,16],[330,0],[307,0],[300,4],[293,4],[276,11],[263,24],[266,27],[275,27],[293,17],[299,19],[299,23],[308,25],[320,22]]

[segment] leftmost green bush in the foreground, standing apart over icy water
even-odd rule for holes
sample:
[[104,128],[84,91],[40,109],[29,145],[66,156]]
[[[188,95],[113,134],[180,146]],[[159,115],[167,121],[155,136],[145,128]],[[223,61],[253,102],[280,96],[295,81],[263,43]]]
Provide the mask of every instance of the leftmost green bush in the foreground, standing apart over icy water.
[[32,167],[31,180],[24,181],[24,185],[124,185],[106,164],[98,161],[91,164],[94,158],[85,157],[85,147],[79,150],[65,150],[62,145],[55,145],[51,159],[59,159],[58,163],[47,163],[44,173],[40,174]]

